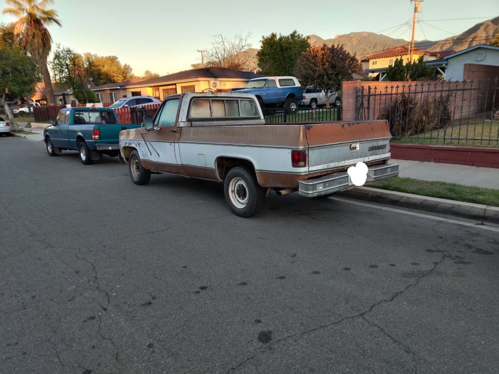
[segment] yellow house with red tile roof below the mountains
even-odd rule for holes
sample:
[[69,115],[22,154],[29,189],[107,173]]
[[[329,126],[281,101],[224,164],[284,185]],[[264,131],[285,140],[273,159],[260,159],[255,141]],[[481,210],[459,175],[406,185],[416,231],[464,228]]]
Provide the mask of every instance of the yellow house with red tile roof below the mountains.
[[[421,56],[428,61],[439,57],[437,52],[428,52],[424,49],[415,48],[413,51],[413,60],[417,61]],[[393,65],[395,60],[400,58],[402,58],[404,64],[410,61],[411,56],[407,45],[399,45],[398,47],[374,53],[363,58],[360,62],[364,71],[368,72],[370,77],[377,76],[378,80],[382,81],[386,77],[388,66]]]

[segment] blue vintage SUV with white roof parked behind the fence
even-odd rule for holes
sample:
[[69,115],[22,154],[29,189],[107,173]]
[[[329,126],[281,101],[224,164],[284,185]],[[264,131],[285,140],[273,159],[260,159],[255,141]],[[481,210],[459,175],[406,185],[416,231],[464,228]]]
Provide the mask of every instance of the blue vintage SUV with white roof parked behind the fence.
[[295,77],[253,78],[246,88],[234,92],[255,95],[262,108],[284,107],[290,113],[294,113],[303,100],[303,88]]

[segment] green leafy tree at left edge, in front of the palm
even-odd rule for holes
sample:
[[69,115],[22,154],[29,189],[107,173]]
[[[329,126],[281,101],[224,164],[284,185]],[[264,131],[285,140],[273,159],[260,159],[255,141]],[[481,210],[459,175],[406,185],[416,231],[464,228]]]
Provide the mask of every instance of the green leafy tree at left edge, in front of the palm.
[[13,31],[8,26],[0,27],[0,61],[0,105],[12,123],[13,130],[18,130],[7,105],[7,97],[28,96],[40,77],[35,62],[15,43]]

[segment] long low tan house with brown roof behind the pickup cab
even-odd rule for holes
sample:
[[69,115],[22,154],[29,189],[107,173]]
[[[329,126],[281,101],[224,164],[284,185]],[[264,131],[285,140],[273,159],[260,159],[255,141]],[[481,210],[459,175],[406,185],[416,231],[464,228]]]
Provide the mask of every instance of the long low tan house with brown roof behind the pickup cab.
[[205,67],[147,80],[135,79],[104,84],[92,88],[92,91],[103,103],[140,95],[155,96],[163,100],[166,96],[176,93],[202,92],[208,88],[214,91],[231,91],[234,88],[246,87],[250,79],[261,76],[247,71]]

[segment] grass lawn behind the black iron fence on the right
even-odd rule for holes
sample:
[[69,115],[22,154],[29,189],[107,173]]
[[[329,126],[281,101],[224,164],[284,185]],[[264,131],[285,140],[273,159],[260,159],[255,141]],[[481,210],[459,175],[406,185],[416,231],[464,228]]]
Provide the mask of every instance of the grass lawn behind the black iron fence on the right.
[[[475,120],[467,124],[467,120],[462,120],[461,126],[454,126],[444,131],[444,129],[434,130],[433,132],[427,132],[417,135],[402,138],[402,139],[392,139],[392,143],[405,143],[405,144],[431,144],[431,145],[446,145],[446,146],[463,146],[463,147],[490,147],[498,148],[498,133],[499,133],[499,120],[494,122],[490,120],[480,121]],[[445,141],[444,141],[445,135]],[[473,140],[460,140],[458,142],[455,138],[468,138]],[[432,138],[430,140],[430,138]],[[438,138],[438,140],[436,139]],[[489,142],[489,138],[491,141]],[[480,139],[483,139],[480,141]],[[480,144],[482,143],[482,144]]]

